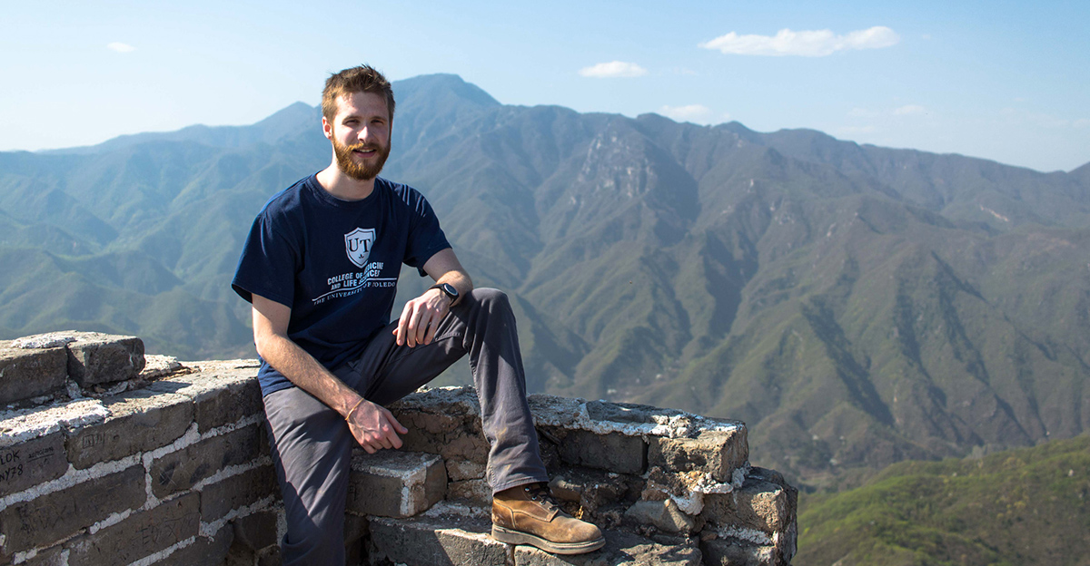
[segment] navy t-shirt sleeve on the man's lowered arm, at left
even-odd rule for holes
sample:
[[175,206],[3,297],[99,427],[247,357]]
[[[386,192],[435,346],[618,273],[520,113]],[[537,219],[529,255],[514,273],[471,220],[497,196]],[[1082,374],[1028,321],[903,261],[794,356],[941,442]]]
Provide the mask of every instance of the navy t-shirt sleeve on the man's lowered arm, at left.
[[250,229],[231,288],[250,303],[259,295],[291,307],[298,259],[298,246],[263,212]]

